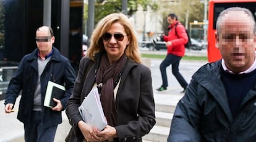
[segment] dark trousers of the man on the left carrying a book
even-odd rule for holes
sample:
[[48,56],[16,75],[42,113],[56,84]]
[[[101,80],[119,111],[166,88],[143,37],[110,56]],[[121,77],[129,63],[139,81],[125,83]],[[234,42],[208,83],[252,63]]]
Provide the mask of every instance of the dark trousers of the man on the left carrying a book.
[[30,124],[24,124],[26,142],[53,142],[58,125],[43,127],[41,123],[41,111],[33,111]]

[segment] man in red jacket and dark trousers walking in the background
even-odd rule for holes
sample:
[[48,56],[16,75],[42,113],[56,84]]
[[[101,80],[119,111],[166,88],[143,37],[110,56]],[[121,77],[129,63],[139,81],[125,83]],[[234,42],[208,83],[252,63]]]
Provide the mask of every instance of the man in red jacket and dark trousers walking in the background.
[[[178,21],[176,14],[168,15],[168,36],[163,36],[163,41],[166,42],[167,55],[160,64],[160,71],[163,80],[163,84],[160,88],[156,89],[158,91],[166,90],[168,87],[168,79],[166,74],[166,68],[171,65],[173,75],[176,77],[181,87],[184,89],[181,93],[184,93],[187,88],[187,81],[179,73],[179,61],[185,54],[185,45],[188,41],[186,34],[186,29]],[[177,26],[177,27],[176,27]],[[177,31],[175,31],[177,30]],[[177,33],[177,34],[176,34]]]

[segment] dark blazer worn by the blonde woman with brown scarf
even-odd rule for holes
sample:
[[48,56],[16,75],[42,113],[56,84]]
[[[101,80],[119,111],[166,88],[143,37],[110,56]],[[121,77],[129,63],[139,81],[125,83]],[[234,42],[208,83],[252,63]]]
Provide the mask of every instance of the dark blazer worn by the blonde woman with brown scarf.
[[[82,120],[78,107],[95,84],[98,65],[99,60],[92,61],[87,57],[80,61],[74,91],[66,109],[72,125],[70,139],[67,141],[83,140],[78,127],[78,122]],[[149,68],[127,60],[116,94],[116,107],[119,124],[114,127],[118,135],[114,141],[142,141],[142,136],[149,133],[155,125],[155,102]]]

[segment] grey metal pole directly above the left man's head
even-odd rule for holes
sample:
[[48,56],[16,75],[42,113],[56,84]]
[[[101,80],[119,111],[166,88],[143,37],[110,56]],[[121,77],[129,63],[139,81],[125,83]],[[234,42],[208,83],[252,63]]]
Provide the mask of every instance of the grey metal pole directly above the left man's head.
[[51,0],[43,1],[43,25],[51,26]]

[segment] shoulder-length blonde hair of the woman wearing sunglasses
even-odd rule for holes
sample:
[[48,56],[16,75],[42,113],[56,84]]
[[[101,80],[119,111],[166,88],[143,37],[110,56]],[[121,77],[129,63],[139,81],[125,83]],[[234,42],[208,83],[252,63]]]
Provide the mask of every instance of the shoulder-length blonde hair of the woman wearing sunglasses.
[[130,23],[129,19],[124,14],[109,14],[102,18],[100,22],[96,25],[92,33],[92,38],[90,42],[90,48],[87,51],[87,57],[91,60],[95,60],[95,53],[105,51],[103,39],[101,38],[106,31],[109,30],[113,23],[120,23],[124,26],[126,34],[129,36],[129,45],[127,45],[125,54],[126,56],[136,62],[141,63],[140,53],[138,49],[138,40],[135,36],[134,26]]

